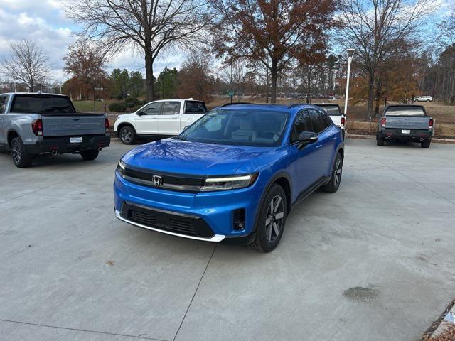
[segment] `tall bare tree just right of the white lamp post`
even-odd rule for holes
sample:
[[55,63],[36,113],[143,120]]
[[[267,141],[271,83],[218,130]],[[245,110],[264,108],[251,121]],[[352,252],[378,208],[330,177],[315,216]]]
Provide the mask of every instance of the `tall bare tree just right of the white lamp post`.
[[338,42],[357,50],[358,65],[368,77],[367,118],[373,116],[378,69],[396,43],[416,34],[432,5],[429,0],[344,0]]

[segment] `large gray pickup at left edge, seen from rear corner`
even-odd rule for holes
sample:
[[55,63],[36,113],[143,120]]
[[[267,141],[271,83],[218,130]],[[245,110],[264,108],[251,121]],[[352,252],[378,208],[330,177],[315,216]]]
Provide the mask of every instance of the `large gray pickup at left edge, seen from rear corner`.
[[106,114],[76,112],[60,94],[0,94],[0,148],[11,151],[14,164],[31,166],[40,154],[79,153],[95,160],[109,146]]

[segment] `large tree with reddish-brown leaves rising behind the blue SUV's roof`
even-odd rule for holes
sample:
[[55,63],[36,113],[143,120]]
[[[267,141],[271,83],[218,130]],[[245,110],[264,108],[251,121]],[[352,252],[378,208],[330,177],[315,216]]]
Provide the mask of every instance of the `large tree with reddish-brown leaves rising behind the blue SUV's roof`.
[[[334,0],[211,0],[218,11],[214,46],[228,59],[245,58],[267,67],[271,102],[276,102],[277,75],[292,59],[320,60],[326,49],[325,33],[333,20]],[[319,57],[319,58],[318,58]]]

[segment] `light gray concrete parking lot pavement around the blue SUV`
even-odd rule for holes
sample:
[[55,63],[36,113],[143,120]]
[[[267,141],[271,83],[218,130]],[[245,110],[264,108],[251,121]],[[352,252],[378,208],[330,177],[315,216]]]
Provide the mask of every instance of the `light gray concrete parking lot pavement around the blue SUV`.
[[348,139],[270,254],[116,220],[127,150],[0,153],[0,340],[415,340],[455,296],[454,145]]

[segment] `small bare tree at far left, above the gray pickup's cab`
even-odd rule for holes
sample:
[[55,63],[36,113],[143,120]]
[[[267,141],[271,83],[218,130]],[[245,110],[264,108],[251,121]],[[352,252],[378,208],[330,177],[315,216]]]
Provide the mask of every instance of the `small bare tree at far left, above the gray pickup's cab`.
[[50,75],[48,55],[31,40],[10,43],[9,47],[9,58],[1,63],[3,74],[26,85],[28,91],[35,91],[35,86],[43,83]]

